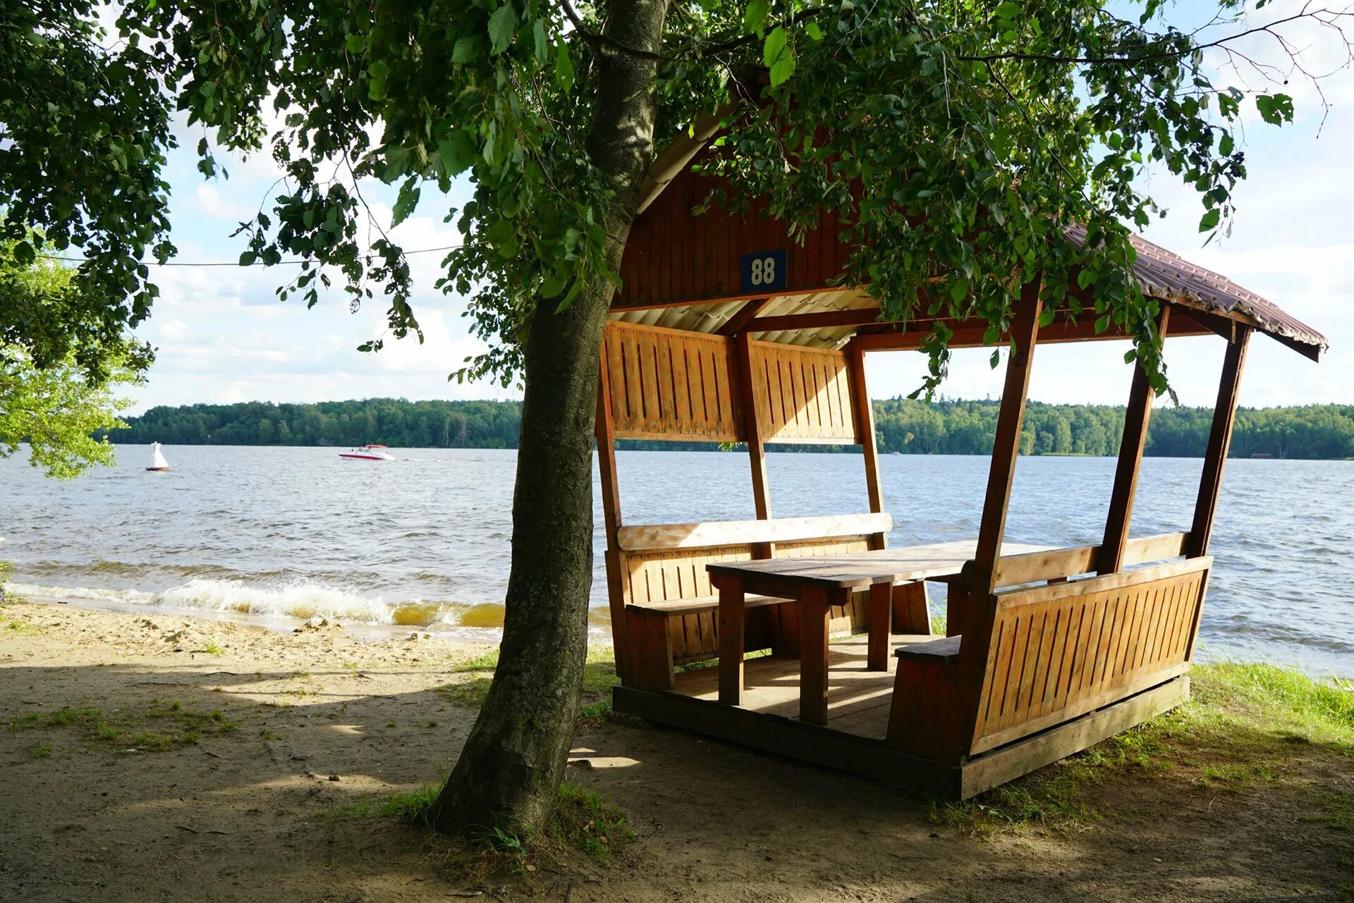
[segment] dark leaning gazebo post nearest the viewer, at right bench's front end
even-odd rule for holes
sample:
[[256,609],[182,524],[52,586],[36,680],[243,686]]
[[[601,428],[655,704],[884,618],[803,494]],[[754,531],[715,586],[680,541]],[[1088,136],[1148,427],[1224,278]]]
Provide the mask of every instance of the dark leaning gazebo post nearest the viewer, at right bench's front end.
[[[965,569],[963,635],[959,647],[956,693],[951,697],[951,718],[945,736],[937,743],[946,759],[963,759],[974,745],[978,723],[978,701],[983,688],[983,670],[991,643],[995,611],[988,598],[997,578],[997,562],[1002,554],[1006,533],[1006,508],[1010,504],[1016,459],[1020,456],[1021,429],[1025,425],[1025,399],[1029,395],[1029,374],[1034,363],[1034,343],[1039,340],[1040,283],[1043,276],[1021,287],[1016,315],[1010,324],[1014,344],[1006,361],[1006,382],[1002,386],[1002,406],[997,414],[997,437],[992,441],[992,464],[987,474],[987,494],[983,498],[983,520],[978,528],[978,551],[971,569]],[[953,583],[951,583],[953,592]],[[949,609],[953,616],[953,607]],[[948,631],[948,632],[952,632]]]

